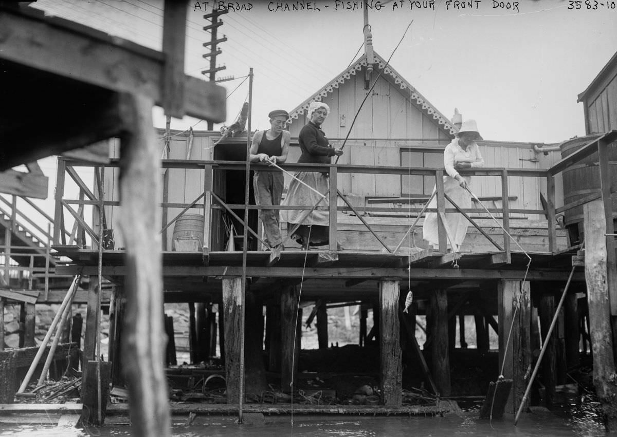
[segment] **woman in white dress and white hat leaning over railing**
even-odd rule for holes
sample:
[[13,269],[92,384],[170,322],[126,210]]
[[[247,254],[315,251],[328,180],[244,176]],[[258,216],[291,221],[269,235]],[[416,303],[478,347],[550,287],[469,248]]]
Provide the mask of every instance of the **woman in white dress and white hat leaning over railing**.
[[[444,167],[447,173],[447,176],[444,176],[444,192],[452,199],[452,202],[465,209],[471,208],[471,195],[466,190],[471,177],[461,176],[458,174],[458,170],[484,166],[484,159],[476,143],[482,137],[475,120],[466,120],[456,136],[444,150]],[[435,189],[433,189],[433,192],[435,192]],[[437,207],[437,197],[433,197],[428,207]],[[453,208],[452,203],[446,200],[445,208]],[[446,237],[448,248],[458,251],[465,239],[469,221],[460,213],[445,213],[445,218],[447,230],[450,234]],[[426,214],[422,230],[424,240],[427,240],[433,248],[439,248],[437,213]]]

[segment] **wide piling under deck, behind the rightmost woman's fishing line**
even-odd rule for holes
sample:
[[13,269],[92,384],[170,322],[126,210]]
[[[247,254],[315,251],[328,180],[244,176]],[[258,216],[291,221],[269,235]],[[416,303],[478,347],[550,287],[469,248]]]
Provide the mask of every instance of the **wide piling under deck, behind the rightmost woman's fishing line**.
[[[503,377],[512,380],[512,390],[505,406],[505,412],[509,413],[515,413],[523,400],[527,387],[525,374],[531,365],[529,281],[522,285],[521,290],[521,281],[518,280],[501,280],[497,284],[499,372]],[[512,333],[506,349],[510,327]]]

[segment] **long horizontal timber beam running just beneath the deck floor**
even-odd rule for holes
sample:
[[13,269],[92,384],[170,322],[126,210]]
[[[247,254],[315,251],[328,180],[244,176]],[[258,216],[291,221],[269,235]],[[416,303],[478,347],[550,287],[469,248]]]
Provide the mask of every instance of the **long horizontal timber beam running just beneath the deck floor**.
[[[96,274],[96,266],[57,266],[56,274],[70,275],[83,269],[83,274]],[[399,279],[521,279],[524,277],[523,270],[499,270],[499,269],[394,269],[394,268],[307,268],[302,267],[252,267],[246,268],[247,276],[272,277],[272,278],[318,278],[318,279],[379,279],[381,277],[394,277]],[[164,276],[241,276],[242,268],[238,266],[163,266]],[[103,266],[104,276],[125,276],[125,266]],[[527,275],[528,280],[555,280],[565,281],[569,272],[533,270]],[[575,273],[573,280],[582,282],[584,274]]]

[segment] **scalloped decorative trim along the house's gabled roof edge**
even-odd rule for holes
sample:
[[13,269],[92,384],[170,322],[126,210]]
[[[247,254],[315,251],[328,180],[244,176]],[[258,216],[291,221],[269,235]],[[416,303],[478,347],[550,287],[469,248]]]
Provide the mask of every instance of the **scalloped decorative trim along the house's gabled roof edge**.
[[[426,98],[415,89],[412,84],[408,83],[403,76],[401,76],[394,68],[390,65],[387,65],[386,60],[384,60],[381,56],[379,56],[375,52],[375,63],[373,64],[373,68],[375,70],[383,70],[382,77],[386,78],[386,80],[394,81],[394,84],[400,86],[402,90],[408,90],[409,98],[413,104],[416,105],[422,112],[424,112],[429,118],[433,118],[433,120],[437,121],[437,124],[440,125],[444,131],[453,135],[457,133],[458,129],[456,126],[452,124],[452,122],[441,112],[437,110]],[[309,109],[309,105],[311,102],[318,100],[321,101],[323,97],[328,96],[329,93],[333,92],[334,88],[339,88],[342,84],[344,84],[351,75],[355,75],[358,71],[362,71],[362,67],[366,67],[366,55],[362,55],[355,63],[350,65],[347,70],[344,70],[341,74],[336,76],[333,80],[329,81],[323,88],[319,91],[315,92],[308,99],[304,100],[299,106],[294,108],[291,113],[289,113],[289,118],[297,119],[300,115],[304,114],[306,110]],[[378,72],[374,72],[374,75],[379,74]]]

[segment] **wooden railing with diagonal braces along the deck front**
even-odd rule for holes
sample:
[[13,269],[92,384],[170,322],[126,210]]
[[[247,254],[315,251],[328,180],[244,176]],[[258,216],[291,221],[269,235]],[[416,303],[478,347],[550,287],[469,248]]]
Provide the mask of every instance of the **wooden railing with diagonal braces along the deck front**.
[[[77,171],[75,171],[78,167],[83,166],[92,166],[89,163],[79,162],[79,161],[71,161],[66,158],[60,158],[59,160],[59,168],[57,181],[58,186],[56,187],[56,227],[54,227],[54,244],[64,245],[67,244],[67,240],[64,238],[64,235],[82,235],[81,240],[77,237],[71,237],[68,243],[72,243],[74,240],[76,243],[81,244],[81,247],[97,247],[97,235],[98,232],[95,231],[93,226],[90,226],[86,223],[84,218],[84,207],[86,205],[91,205],[93,207],[93,217],[97,217],[98,208],[107,207],[107,206],[118,206],[120,205],[119,200],[101,200],[98,198],[97,194],[99,187],[97,184],[99,183],[100,178],[94,178],[94,187],[89,187],[88,184],[85,184],[83,178],[80,178]],[[111,160],[109,164],[106,165],[106,168],[118,168],[119,161]],[[501,200],[501,206],[492,206],[489,208],[480,208],[479,205],[474,206],[473,208],[446,208],[446,194],[444,193],[443,187],[443,176],[444,170],[438,168],[421,168],[421,167],[401,167],[401,166],[360,166],[360,165],[313,165],[313,164],[304,164],[304,163],[295,163],[295,164],[285,164],[282,166],[288,172],[294,171],[315,171],[320,173],[328,173],[329,175],[329,183],[331,186],[331,190],[328,193],[329,198],[329,206],[317,206],[317,210],[329,210],[329,247],[328,249],[331,251],[336,251],[336,242],[337,242],[337,232],[338,232],[338,223],[337,223],[337,211],[349,211],[352,210],[358,217],[360,221],[367,227],[367,229],[373,232],[376,239],[379,240],[381,245],[385,248],[386,251],[391,251],[392,247],[388,247],[381,239],[379,235],[371,229],[370,225],[366,223],[365,219],[363,219],[363,213],[373,213],[373,212],[384,212],[384,211],[392,211],[392,208],[386,208],[383,206],[355,206],[352,202],[346,197],[346,194],[341,192],[341,190],[337,186],[337,181],[339,180],[339,175],[341,174],[374,174],[377,176],[382,175],[394,175],[394,176],[431,176],[435,178],[436,181],[436,197],[437,197],[437,207],[436,208],[428,208],[425,211],[427,212],[437,212],[439,216],[442,216],[444,213],[464,213],[467,216],[469,214],[481,213],[486,214],[489,211],[492,215],[499,217],[500,224],[503,225],[503,242],[502,244],[495,242],[491,239],[478,224],[471,219],[471,224],[476,226],[482,234],[486,235],[486,237],[491,240],[496,250],[502,251],[507,256],[509,261],[510,259],[510,251],[511,251],[511,241],[508,237],[508,233],[510,233],[510,218],[511,214],[538,214],[541,216],[546,216],[548,219],[548,227],[549,227],[549,251],[552,253],[556,252],[557,249],[557,231],[555,227],[555,184],[554,184],[554,176],[550,173],[549,170],[545,169],[524,169],[524,168],[478,168],[478,169],[466,169],[460,171],[463,175],[474,175],[478,179],[482,177],[497,177],[500,180],[500,194],[494,195],[491,198],[493,200]],[[223,226],[221,223],[217,223],[215,227],[212,227],[210,223],[210,218],[212,214],[210,211],[226,211],[226,213],[233,216],[239,223],[243,224],[244,215],[243,211],[245,208],[244,204],[228,204],[225,202],[225,199],[221,198],[216,189],[213,189],[213,175],[217,170],[234,170],[240,171],[242,174],[245,172],[245,163],[241,161],[196,161],[196,160],[164,160],[162,161],[162,168],[169,169],[194,169],[202,172],[203,175],[203,189],[191,202],[159,202],[161,208],[182,208],[180,214],[170,214],[173,216],[167,223],[162,224],[161,232],[168,227],[172,226],[175,221],[180,218],[184,213],[190,210],[197,210],[203,213],[204,205],[207,205],[207,210],[209,214],[207,217],[209,219],[205,220],[204,223],[204,246],[209,248],[210,236],[212,235],[213,230],[216,229],[216,226]],[[259,171],[279,171],[277,169],[271,168],[267,165],[262,164],[251,164],[251,169]],[[69,178],[72,179],[78,187],[79,190],[79,198],[65,198],[64,197],[64,181],[65,174],[68,174]],[[95,171],[97,174],[97,171]],[[240,173],[238,173],[240,174]],[[513,197],[513,194],[508,191],[508,178],[510,177],[522,177],[522,178],[539,178],[540,180],[545,180],[547,183],[547,208],[546,209],[529,209],[529,208],[510,208],[509,200]],[[244,176],[242,176],[242,180],[244,180]],[[337,189],[332,189],[336,187]],[[345,205],[337,206],[337,198],[342,198]],[[75,205],[78,205],[78,209],[74,208]],[[247,210],[254,211],[259,210],[261,208],[265,208],[263,206],[257,205],[248,205]],[[270,209],[275,210],[310,210],[312,207],[310,206],[270,206]],[[73,231],[67,232],[64,224],[64,211],[68,211],[70,216],[73,217]],[[239,212],[242,211],[242,212]],[[420,206],[410,206],[409,208],[405,208],[406,213],[415,213],[418,214],[423,211],[423,208]],[[256,232],[255,229],[251,229],[249,227],[249,232],[255,239],[260,239],[259,232]],[[236,229],[238,234],[241,234],[241,229]],[[89,244],[88,244],[89,242]],[[445,229],[441,219],[439,220],[439,251],[445,253],[447,249],[447,236],[445,234]]]

